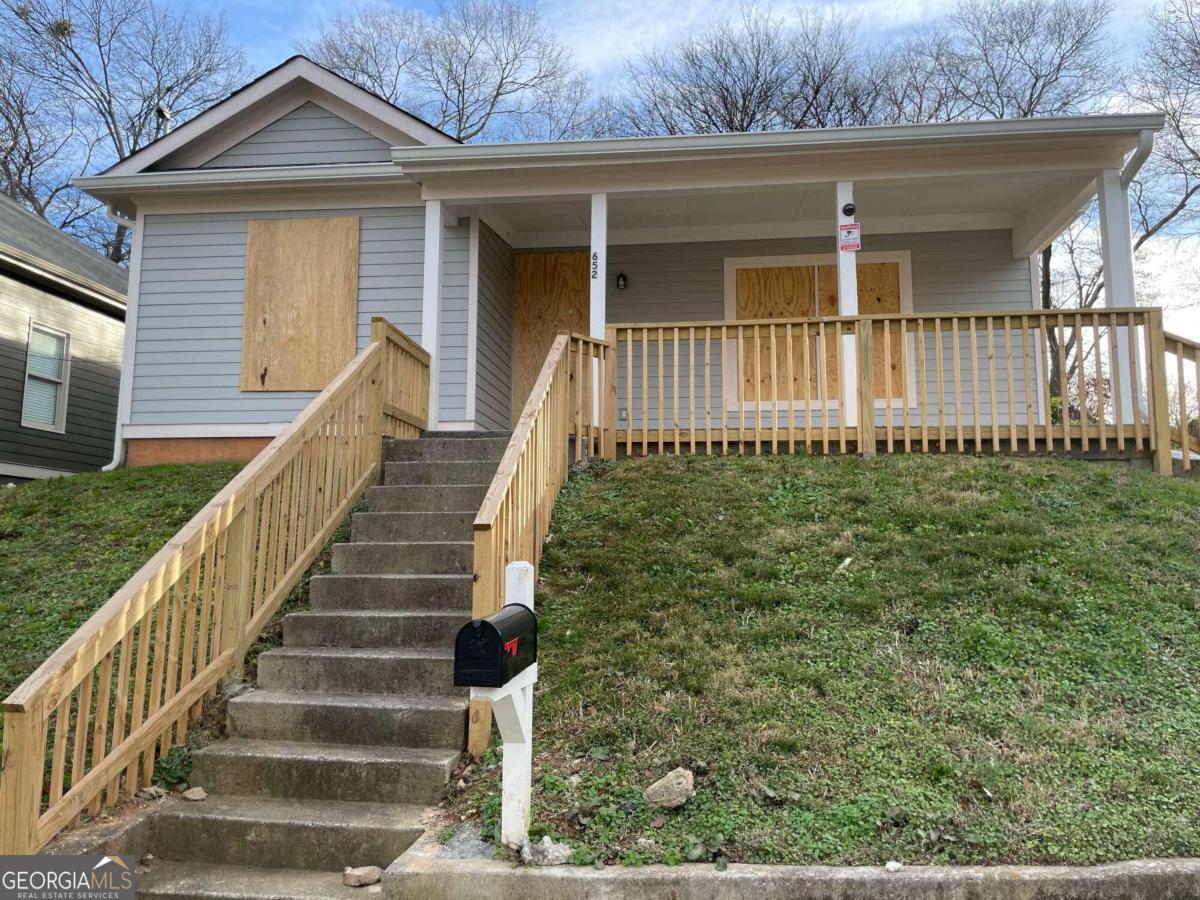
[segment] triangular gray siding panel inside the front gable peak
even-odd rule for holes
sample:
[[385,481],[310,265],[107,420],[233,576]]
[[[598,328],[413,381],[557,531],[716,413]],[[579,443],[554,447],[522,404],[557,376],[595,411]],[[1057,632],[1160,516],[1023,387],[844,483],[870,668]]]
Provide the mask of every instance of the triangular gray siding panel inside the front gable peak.
[[388,162],[390,158],[391,148],[386,140],[310,102],[209,160],[203,168]]

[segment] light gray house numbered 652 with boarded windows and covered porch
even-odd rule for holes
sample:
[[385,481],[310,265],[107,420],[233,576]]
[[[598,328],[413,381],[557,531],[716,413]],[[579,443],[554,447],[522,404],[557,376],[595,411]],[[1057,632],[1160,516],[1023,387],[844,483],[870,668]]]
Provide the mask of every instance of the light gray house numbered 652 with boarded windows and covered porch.
[[[373,316],[430,350],[442,430],[510,427],[563,330],[618,338],[630,439],[635,421],[661,438],[781,403],[853,424],[858,350],[840,328],[794,346],[780,331],[775,347],[766,324],[722,341],[722,323],[942,313],[977,317],[970,341],[934,318],[930,334],[876,338],[876,424],[934,425],[928,391],[940,425],[1048,427],[1048,322],[1020,318],[1038,307],[1034,257],[1098,196],[1108,301],[1133,306],[1126,191],[1160,127],[1099,115],[462,145],[293,58],[79,180],[137,222],[128,461],[248,457],[365,346]],[[1135,338],[1111,323],[1097,358],[1124,377]]]

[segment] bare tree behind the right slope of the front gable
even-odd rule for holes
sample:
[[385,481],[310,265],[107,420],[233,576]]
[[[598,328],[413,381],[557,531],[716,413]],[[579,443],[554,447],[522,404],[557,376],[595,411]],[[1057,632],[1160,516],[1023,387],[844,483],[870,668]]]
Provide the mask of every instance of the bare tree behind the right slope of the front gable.
[[572,136],[590,95],[524,0],[452,0],[432,16],[359,6],[300,49],[460,140]]

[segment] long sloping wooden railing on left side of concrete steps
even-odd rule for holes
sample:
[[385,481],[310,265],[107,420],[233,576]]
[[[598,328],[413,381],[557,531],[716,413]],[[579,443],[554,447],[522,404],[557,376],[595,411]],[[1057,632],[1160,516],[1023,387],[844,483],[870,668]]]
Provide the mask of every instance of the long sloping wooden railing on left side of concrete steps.
[[425,427],[428,355],[382,320],[372,336],[5,701],[0,852],[150,782],[376,480],[380,437]]

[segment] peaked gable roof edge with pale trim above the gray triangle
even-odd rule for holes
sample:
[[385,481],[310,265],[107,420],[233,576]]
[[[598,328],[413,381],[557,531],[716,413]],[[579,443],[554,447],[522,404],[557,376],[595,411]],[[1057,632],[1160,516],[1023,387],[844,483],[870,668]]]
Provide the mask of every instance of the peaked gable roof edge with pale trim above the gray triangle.
[[[407,138],[407,142],[422,145],[457,145],[460,143],[456,138],[388,102],[378,94],[360,88],[336,72],[313,62],[307,56],[295,55],[242,85],[178,128],[167,132],[125,160],[110,166],[100,175],[133,175],[145,172],[168,157],[180,155],[186,148],[211,136],[223,126],[236,127],[241,137],[259,131],[278,118],[268,114],[268,118],[259,120],[270,100],[296,85],[307,85],[313,90],[322,91],[377,122],[380,131],[397,138],[390,143],[400,143],[398,138]],[[298,100],[295,106],[300,106],[301,102],[305,101]],[[215,156],[224,149],[227,146],[218,145],[212,155]],[[196,166],[182,166],[181,168],[192,167]]]

